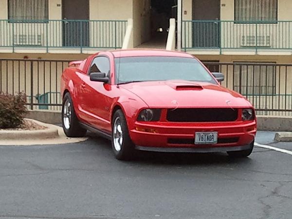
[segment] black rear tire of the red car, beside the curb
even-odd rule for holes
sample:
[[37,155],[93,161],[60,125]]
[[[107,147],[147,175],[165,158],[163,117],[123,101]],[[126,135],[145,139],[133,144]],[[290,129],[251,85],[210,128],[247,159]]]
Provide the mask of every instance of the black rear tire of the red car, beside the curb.
[[[70,103],[70,106],[68,106],[67,108],[65,107],[65,104],[67,106],[67,103]],[[66,109],[65,109],[66,108]],[[71,119],[69,122],[69,127],[67,122],[65,122],[64,117],[68,118],[68,113],[64,112],[64,110],[70,109],[71,112]],[[66,113],[66,115],[65,115]],[[67,137],[84,137],[86,134],[86,129],[82,128],[79,124],[78,118],[75,114],[75,110],[73,107],[73,101],[72,98],[70,96],[70,93],[67,92],[63,98],[63,106],[62,106],[62,126],[63,126],[63,130],[66,134]]]

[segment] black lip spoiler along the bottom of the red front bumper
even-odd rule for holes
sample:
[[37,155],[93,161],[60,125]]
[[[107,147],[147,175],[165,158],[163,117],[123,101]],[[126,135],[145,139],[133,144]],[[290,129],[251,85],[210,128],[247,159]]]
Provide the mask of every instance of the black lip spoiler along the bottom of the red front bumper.
[[248,150],[251,145],[228,146],[228,147],[151,147],[135,146],[137,150],[154,151],[154,152],[173,152],[173,153],[214,153],[227,151]]

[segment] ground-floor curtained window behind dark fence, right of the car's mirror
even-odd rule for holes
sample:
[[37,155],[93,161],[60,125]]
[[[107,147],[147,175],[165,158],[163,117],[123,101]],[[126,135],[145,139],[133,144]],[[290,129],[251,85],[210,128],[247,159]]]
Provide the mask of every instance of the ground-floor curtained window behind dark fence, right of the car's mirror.
[[272,65],[234,66],[234,90],[242,95],[275,95],[276,67]]

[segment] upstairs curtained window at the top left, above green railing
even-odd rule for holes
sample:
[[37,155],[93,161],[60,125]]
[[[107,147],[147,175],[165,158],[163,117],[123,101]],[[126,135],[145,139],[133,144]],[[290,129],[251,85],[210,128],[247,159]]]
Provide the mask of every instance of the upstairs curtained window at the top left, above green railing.
[[48,0],[8,0],[8,19],[43,22],[48,19]]

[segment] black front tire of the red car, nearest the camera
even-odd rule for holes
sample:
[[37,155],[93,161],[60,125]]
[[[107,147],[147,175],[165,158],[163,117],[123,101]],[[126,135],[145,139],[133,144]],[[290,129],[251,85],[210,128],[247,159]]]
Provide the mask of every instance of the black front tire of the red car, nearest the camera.
[[[117,140],[115,137],[117,137],[118,134],[115,134],[115,122],[119,123],[120,128],[122,130],[122,133],[120,133],[120,136],[122,136],[122,144],[120,144],[120,141]],[[129,136],[128,131],[128,125],[125,118],[125,115],[122,110],[116,110],[112,117],[112,124],[111,124],[111,148],[113,151],[113,154],[116,159],[118,160],[131,160],[134,158],[134,152],[135,152],[135,146]],[[117,131],[117,130],[116,130]],[[115,142],[119,141],[120,150],[116,149]]]

